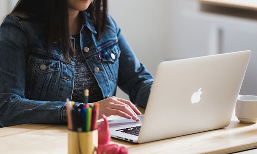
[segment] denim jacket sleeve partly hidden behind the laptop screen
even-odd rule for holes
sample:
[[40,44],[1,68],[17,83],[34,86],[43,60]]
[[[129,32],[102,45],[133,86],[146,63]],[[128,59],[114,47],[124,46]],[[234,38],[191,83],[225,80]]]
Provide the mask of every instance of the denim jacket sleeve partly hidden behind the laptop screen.
[[119,57],[118,86],[128,94],[133,104],[145,108],[154,78],[151,73],[146,70],[145,66],[138,61],[116,22],[112,18],[111,20],[116,27],[118,44],[121,50]]

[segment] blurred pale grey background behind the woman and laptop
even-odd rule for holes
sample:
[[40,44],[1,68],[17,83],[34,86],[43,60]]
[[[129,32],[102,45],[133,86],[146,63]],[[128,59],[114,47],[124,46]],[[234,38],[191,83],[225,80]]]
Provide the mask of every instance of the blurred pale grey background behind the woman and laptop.
[[[0,0],[1,21],[16,2]],[[241,95],[257,95],[256,12],[197,0],[109,0],[109,13],[153,75],[162,61],[251,50]],[[119,89],[117,96],[128,99]]]

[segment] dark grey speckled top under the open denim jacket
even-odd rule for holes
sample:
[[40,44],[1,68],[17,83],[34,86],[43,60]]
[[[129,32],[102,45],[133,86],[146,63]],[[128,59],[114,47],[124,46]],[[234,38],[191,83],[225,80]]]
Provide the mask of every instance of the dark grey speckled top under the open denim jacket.
[[98,83],[90,71],[80,48],[80,34],[74,35],[75,38],[75,72],[74,89],[72,100],[74,102],[84,103],[84,91],[89,89],[89,103],[104,99]]

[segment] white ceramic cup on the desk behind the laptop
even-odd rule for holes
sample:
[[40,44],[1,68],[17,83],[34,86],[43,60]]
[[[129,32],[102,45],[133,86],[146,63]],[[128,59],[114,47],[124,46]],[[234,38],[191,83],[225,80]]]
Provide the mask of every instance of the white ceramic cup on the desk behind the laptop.
[[257,122],[257,96],[239,95],[235,105],[235,116],[242,123]]

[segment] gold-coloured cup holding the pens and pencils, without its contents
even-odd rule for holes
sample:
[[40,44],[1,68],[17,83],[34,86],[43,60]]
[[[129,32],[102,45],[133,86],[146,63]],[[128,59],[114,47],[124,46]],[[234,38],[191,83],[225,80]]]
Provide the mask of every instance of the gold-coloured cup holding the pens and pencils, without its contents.
[[97,130],[90,132],[68,132],[68,154],[96,154]]

